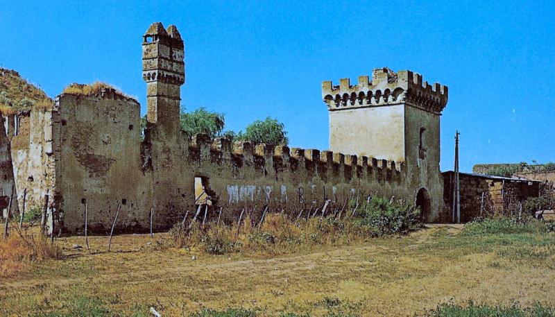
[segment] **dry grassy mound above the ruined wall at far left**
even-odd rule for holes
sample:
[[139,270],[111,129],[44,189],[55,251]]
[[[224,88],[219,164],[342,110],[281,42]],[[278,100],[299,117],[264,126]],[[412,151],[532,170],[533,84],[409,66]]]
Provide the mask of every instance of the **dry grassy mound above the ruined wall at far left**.
[[0,112],[15,114],[32,108],[51,108],[53,101],[39,87],[14,70],[0,67]]

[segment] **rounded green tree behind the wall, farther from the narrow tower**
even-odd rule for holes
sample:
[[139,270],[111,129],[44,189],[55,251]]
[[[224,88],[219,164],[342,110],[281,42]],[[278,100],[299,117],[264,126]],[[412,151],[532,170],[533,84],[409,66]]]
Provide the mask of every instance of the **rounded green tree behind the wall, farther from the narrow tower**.
[[289,144],[284,124],[271,117],[267,117],[264,121],[257,120],[250,123],[244,133],[237,133],[235,139],[272,145]]

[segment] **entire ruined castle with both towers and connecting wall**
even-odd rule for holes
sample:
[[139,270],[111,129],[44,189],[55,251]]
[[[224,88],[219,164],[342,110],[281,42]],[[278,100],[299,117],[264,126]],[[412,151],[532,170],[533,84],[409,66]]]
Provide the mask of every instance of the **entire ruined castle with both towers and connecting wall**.
[[51,109],[6,117],[19,205],[24,192],[29,206],[46,200],[51,230],[80,232],[85,205],[93,231],[109,228],[119,205],[117,230],[146,230],[151,209],[163,230],[194,212],[203,194],[212,212],[225,214],[298,212],[327,200],[331,209],[378,195],[416,203],[427,222],[445,218],[439,132],[447,87],[386,68],[357,85],[325,81],[329,151],[290,149],[180,130],[185,53],[176,26],[152,24],[142,58],[144,135],[139,103],[110,88],[65,92]]

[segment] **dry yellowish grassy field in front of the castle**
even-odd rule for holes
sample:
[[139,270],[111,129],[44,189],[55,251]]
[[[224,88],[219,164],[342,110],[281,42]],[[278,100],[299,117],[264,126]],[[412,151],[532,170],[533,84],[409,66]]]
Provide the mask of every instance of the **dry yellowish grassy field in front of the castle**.
[[92,237],[89,254],[74,248],[83,237],[62,238],[63,259],[0,277],[0,316],[152,316],[150,307],[162,316],[217,316],[203,309],[230,307],[225,316],[426,316],[469,301],[555,305],[553,233],[432,225],[269,257],[205,255],[167,240],[121,235],[108,253],[108,239]]

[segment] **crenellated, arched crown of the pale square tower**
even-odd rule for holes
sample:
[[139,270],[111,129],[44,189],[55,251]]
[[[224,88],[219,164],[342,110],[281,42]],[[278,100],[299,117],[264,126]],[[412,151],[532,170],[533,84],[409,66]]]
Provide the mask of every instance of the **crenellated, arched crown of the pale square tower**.
[[324,81],[322,98],[330,111],[407,103],[440,113],[447,105],[448,88],[439,83],[430,85],[412,71],[395,73],[384,67],[373,70],[371,81],[368,76],[359,76],[357,85],[351,85],[349,78],[341,78],[339,85]]

